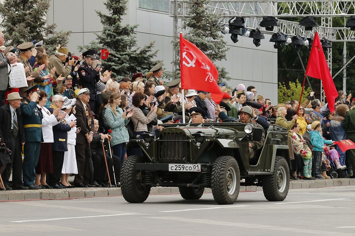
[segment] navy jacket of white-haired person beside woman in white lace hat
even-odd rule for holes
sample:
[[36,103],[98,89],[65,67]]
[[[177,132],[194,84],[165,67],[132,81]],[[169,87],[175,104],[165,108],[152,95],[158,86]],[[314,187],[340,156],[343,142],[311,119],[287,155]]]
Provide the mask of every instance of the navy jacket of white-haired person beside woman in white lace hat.
[[[48,108],[48,110],[53,114],[53,107]],[[53,151],[68,151],[68,132],[70,129],[65,118],[60,119],[59,123],[53,126]]]

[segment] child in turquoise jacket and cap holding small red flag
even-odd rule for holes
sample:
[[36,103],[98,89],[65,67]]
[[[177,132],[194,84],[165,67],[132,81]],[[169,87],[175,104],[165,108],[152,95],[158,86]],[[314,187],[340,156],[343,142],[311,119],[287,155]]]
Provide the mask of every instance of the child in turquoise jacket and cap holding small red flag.
[[324,179],[321,175],[321,165],[322,165],[322,152],[325,144],[334,144],[335,141],[325,140],[321,135],[321,123],[319,121],[313,121],[311,128],[313,131],[310,132],[311,143],[313,145],[313,160],[312,160],[312,169],[316,179]]

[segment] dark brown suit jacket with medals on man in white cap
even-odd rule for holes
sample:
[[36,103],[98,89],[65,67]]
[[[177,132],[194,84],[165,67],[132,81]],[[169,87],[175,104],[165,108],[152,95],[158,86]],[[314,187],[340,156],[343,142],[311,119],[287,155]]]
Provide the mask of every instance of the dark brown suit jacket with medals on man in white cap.
[[91,131],[94,132],[94,119],[91,119],[89,104],[86,104],[86,110],[81,100],[77,99],[75,106],[76,127],[81,128],[80,133],[76,136],[76,143],[86,144],[87,139],[85,135]]

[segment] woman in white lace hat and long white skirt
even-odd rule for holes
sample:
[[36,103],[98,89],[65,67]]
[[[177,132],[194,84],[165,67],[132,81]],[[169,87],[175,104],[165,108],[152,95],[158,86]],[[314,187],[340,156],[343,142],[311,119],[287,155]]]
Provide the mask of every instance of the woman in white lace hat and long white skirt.
[[[74,121],[75,118],[75,106],[72,107],[76,102],[76,99],[69,99],[64,97],[64,104],[62,110],[65,112],[66,116],[65,121],[67,124]],[[68,182],[69,174],[77,174],[78,166],[76,164],[76,155],[75,155],[75,144],[76,144],[76,134],[80,132],[80,129],[77,127],[72,127],[68,132],[68,151],[64,152],[64,161],[62,167],[62,176],[60,183],[67,188],[75,188],[74,185],[71,185]]]

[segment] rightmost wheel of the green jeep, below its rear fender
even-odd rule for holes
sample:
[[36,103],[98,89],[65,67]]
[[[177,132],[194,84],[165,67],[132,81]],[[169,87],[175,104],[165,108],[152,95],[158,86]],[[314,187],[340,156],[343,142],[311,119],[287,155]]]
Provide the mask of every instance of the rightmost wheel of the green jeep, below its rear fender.
[[282,156],[275,157],[274,172],[262,179],[264,196],[268,201],[283,201],[289,190],[290,170]]

